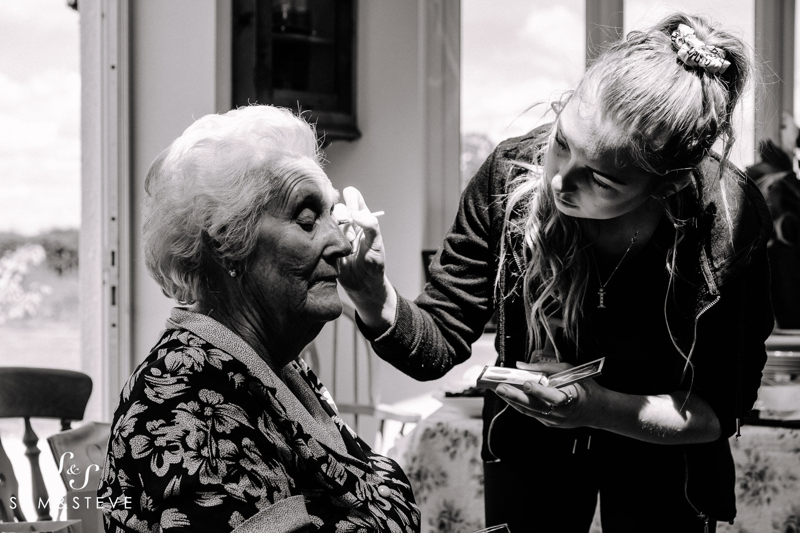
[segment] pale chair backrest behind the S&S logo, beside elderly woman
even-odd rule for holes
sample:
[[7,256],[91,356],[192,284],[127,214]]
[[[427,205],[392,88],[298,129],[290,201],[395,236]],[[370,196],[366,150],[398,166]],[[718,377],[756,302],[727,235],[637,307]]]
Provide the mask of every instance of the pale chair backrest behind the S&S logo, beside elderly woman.
[[[50,444],[53,459],[61,469],[61,480],[67,491],[97,489],[102,466],[106,462],[106,448],[110,434],[111,424],[87,422],[80,428],[68,429],[66,432],[47,437],[47,444]],[[78,468],[74,471],[79,472],[80,479],[70,475],[71,465]]]

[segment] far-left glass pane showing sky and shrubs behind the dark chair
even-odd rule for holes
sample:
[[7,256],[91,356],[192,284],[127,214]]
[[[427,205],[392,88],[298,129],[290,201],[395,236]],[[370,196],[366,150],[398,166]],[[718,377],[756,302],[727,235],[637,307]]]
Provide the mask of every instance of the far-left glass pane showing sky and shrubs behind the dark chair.
[[[78,12],[65,0],[0,2],[0,364],[81,370],[78,314],[81,81]],[[90,415],[87,415],[91,418]],[[31,420],[52,499],[66,489]],[[0,420],[22,511],[36,518],[22,419]],[[58,509],[51,506],[51,515]],[[63,516],[62,516],[63,518]]]

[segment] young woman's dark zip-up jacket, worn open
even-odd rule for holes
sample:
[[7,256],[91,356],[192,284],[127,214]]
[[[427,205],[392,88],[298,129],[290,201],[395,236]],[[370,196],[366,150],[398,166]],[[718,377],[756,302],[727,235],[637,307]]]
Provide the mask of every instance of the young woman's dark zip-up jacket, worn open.
[[[469,358],[471,344],[495,311],[496,364],[512,367],[526,360],[526,312],[518,290],[522,243],[504,234],[502,226],[506,183],[524,172],[510,161],[531,162],[534,139],[541,132],[498,145],[462,194],[454,225],[430,265],[430,283],[414,302],[398,295],[396,320],[373,346],[409,376],[434,380]],[[722,428],[714,443],[685,446],[687,471],[697,472],[688,491],[698,493],[706,506],[701,511],[729,520],[735,515],[734,465],[727,438],[756,400],[766,362],[764,340],[774,325],[766,259],[772,221],[758,188],[731,165],[720,178],[719,165],[714,154],[706,157],[696,180],[702,188],[687,187],[682,193],[699,201],[683,203],[689,207],[683,208],[682,218],[690,223],[682,227],[685,235],[678,245],[681,275],[670,300],[670,330],[694,366],[694,380],[690,384],[687,377],[676,390],[691,388],[706,400]],[[502,239],[510,253],[500,265]],[[498,416],[505,405],[493,393],[486,396],[485,460],[511,459],[529,445],[525,416],[513,409]]]

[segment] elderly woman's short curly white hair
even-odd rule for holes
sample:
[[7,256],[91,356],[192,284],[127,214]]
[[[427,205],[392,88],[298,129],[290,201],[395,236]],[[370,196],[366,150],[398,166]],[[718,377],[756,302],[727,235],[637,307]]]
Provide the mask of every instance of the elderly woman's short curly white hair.
[[210,268],[243,265],[262,210],[292,161],[321,162],[314,127],[250,105],[199,118],[147,173],[142,247],[150,275],[182,304],[210,300]]

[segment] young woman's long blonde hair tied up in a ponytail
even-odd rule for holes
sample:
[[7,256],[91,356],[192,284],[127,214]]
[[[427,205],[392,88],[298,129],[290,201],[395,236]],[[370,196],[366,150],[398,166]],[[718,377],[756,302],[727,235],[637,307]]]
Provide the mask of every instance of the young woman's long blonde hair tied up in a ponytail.
[[[670,41],[678,24],[694,28],[706,44],[726,50],[730,66],[724,74],[710,74],[680,61]],[[678,170],[696,170],[714,142],[722,139],[722,176],[734,143],[732,114],[751,70],[742,39],[706,18],[673,14],[649,30],[632,31],[612,43],[586,70],[574,94],[580,97],[587,89],[596,90],[598,112],[626,132],[620,143],[624,148],[615,154],[618,161],[632,161],[672,181]],[[567,93],[554,104],[557,114],[571,96]],[[590,272],[578,222],[554,205],[543,168],[553,127],[554,123],[534,138],[530,162],[517,162],[529,172],[510,181],[506,197],[504,231],[518,233],[523,242],[522,293],[531,350],[544,347],[542,329],[553,339],[550,318],[559,310],[566,336],[577,342]],[[694,176],[700,178],[698,172]],[[702,184],[695,184],[694,190],[700,200]],[[670,275],[674,248],[667,257]],[[507,253],[503,239],[501,264]]]

